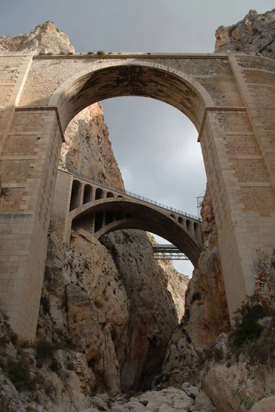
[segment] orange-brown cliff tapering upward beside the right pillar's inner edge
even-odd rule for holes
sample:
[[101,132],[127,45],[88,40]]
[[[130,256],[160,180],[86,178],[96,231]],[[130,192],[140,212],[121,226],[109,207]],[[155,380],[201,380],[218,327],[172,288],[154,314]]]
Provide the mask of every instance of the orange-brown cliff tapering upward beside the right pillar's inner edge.
[[162,374],[154,380],[158,388],[180,387],[184,380],[198,385],[204,347],[230,329],[217,229],[208,190],[201,215],[204,246],[187,288],[184,317],[169,343]]

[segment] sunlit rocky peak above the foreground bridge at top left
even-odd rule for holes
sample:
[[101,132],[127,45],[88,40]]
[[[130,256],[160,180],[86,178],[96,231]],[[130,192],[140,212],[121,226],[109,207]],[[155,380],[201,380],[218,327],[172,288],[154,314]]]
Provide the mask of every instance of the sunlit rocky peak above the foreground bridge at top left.
[[0,52],[40,52],[47,53],[74,53],[75,49],[69,37],[60,31],[52,21],[38,24],[30,33],[19,34],[15,37],[0,37]]

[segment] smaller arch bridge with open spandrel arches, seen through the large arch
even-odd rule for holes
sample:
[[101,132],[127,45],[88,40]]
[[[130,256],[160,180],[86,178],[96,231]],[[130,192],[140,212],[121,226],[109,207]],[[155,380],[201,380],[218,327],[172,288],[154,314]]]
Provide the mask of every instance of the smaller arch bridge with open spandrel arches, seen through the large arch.
[[141,229],[169,240],[198,266],[203,243],[198,217],[83,174],[58,170],[53,213],[60,238],[67,244],[71,229],[78,227],[94,233],[97,239],[110,231]]

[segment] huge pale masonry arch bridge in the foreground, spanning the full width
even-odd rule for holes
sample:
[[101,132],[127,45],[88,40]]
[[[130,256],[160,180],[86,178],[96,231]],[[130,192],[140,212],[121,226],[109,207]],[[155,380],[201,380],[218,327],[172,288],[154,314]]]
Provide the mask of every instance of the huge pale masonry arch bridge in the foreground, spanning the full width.
[[[232,317],[254,291],[256,249],[274,247],[274,88],[275,62],[254,56],[0,53],[0,174],[7,188],[0,199],[0,293],[14,330],[35,336],[64,130],[84,107],[121,95],[167,102],[197,128]],[[76,184],[75,194],[84,196]]]

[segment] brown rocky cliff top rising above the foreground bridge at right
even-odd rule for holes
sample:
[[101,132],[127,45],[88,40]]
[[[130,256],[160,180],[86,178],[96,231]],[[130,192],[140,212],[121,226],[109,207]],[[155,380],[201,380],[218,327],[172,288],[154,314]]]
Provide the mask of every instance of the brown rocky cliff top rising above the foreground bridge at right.
[[250,10],[236,24],[216,30],[215,53],[262,54],[275,57],[275,9],[258,14]]

